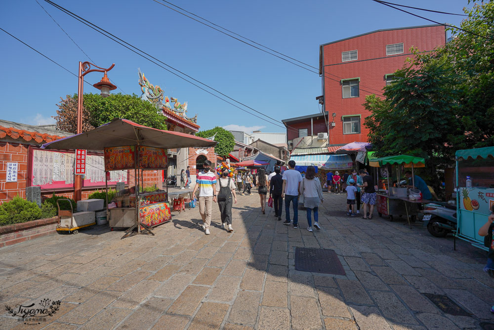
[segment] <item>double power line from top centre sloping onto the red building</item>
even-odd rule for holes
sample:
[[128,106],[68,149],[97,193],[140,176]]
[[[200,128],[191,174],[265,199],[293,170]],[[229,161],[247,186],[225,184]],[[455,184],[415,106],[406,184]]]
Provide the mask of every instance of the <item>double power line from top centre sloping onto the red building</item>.
[[[298,67],[300,67],[300,68],[302,68],[302,69],[304,69],[304,70],[307,70],[307,71],[309,71],[309,72],[316,73],[316,74],[318,74],[318,75],[319,75],[319,68],[317,68],[317,67],[315,67],[315,66],[313,66],[313,65],[310,65],[310,64],[307,64],[307,63],[305,63],[305,62],[299,61],[299,60],[297,60],[297,59],[295,59],[295,58],[293,58],[293,57],[290,57],[290,56],[288,56],[288,55],[286,55],[286,54],[284,54],[284,53],[282,53],[282,52],[276,51],[276,50],[274,50],[274,49],[272,49],[272,48],[270,48],[270,47],[267,47],[267,46],[264,46],[264,45],[262,45],[262,44],[256,43],[255,41],[253,41],[253,40],[251,40],[251,39],[249,39],[249,38],[247,38],[247,37],[244,37],[244,36],[242,36],[242,35],[240,35],[240,34],[238,34],[238,33],[236,33],[236,32],[233,32],[233,31],[231,31],[231,30],[228,30],[227,28],[224,28],[224,27],[222,27],[222,26],[220,26],[220,25],[218,25],[218,24],[215,24],[215,23],[213,23],[213,22],[211,22],[211,21],[207,20],[207,19],[206,19],[206,18],[204,18],[204,17],[201,17],[201,16],[199,16],[199,15],[197,15],[197,14],[194,14],[194,13],[192,13],[192,12],[190,12],[190,11],[187,11],[187,10],[185,10],[185,9],[183,9],[183,8],[181,8],[181,7],[179,7],[179,6],[177,6],[176,4],[173,4],[173,3],[168,2],[168,1],[166,1],[166,0],[161,0],[161,1],[163,1],[163,2],[166,2],[166,3],[168,3],[168,4],[170,4],[170,5],[174,6],[174,7],[176,7],[176,8],[179,8],[180,10],[185,11],[186,13],[189,13],[189,14],[191,14],[191,15],[195,16],[195,17],[198,17],[198,18],[200,18],[200,19],[202,19],[202,20],[204,20],[204,21],[206,21],[206,22],[208,22],[208,23],[210,23],[210,24],[212,24],[212,25],[214,25],[214,26],[211,26],[211,25],[208,25],[208,24],[206,24],[206,23],[204,23],[204,22],[201,22],[200,20],[195,19],[194,17],[191,17],[191,16],[189,16],[189,15],[187,15],[187,14],[184,14],[183,12],[181,12],[181,11],[179,11],[179,10],[177,10],[177,9],[174,9],[174,8],[172,8],[172,7],[170,7],[170,6],[167,6],[165,3],[161,3],[161,2],[159,2],[159,1],[157,1],[157,0],[153,0],[153,1],[155,1],[155,2],[156,2],[156,3],[158,3],[158,4],[161,4],[161,5],[165,6],[165,7],[169,8],[169,9],[171,9],[171,10],[173,10],[173,11],[175,11],[175,12],[177,12],[177,13],[181,14],[181,15],[184,15],[185,17],[188,17],[188,18],[190,18],[190,19],[192,19],[192,20],[194,20],[194,21],[196,21],[196,22],[198,22],[198,23],[201,23],[201,24],[203,24],[203,25],[206,25],[207,27],[209,27],[209,28],[211,28],[211,29],[213,29],[213,30],[215,30],[215,31],[218,31],[218,32],[220,32],[220,33],[222,33],[222,34],[224,34],[224,35],[226,35],[226,36],[230,37],[230,38],[233,38],[233,39],[235,39],[235,40],[237,40],[237,41],[240,41],[241,43],[244,43],[244,44],[246,44],[246,45],[248,45],[248,46],[250,46],[250,47],[254,47],[254,48],[256,48],[256,49],[258,49],[258,50],[261,50],[261,51],[263,51],[263,52],[265,52],[265,53],[268,53],[268,54],[273,55],[273,56],[275,56],[275,57],[278,57],[278,58],[280,58],[280,59],[282,59],[282,60],[284,60],[284,61],[287,61],[288,63],[291,63],[291,64],[293,64],[293,65],[296,65],[296,66],[298,66]],[[296,63],[294,63],[294,62],[292,62],[292,61],[290,61],[290,60],[287,60],[286,58],[283,58],[283,57],[278,56],[278,55],[276,55],[276,54],[273,54],[273,53],[271,53],[271,52],[269,52],[269,51],[266,51],[266,50],[264,50],[264,49],[261,49],[261,48],[259,48],[259,47],[254,46],[254,45],[251,45],[251,44],[249,44],[249,43],[247,43],[247,42],[245,42],[245,41],[243,41],[243,40],[241,40],[241,39],[239,39],[239,38],[236,38],[236,37],[234,37],[234,36],[232,36],[232,35],[229,35],[228,33],[225,33],[224,31],[219,30],[219,29],[217,29],[217,28],[215,28],[215,27],[218,27],[218,28],[220,28],[220,29],[223,29],[223,30],[225,30],[225,31],[228,31],[229,33],[232,33],[232,34],[234,34],[234,35],[236,35],[236,36],[238,36],[238,37],[240,37],[240,38],[243,38],[243,39],[245,39],[245,40],[248,40],[249,42],[251,42],[251,43],[253,43],[253,44],[255,44],[255,45],[258,45],[258,46],[260,46],[260,47],[264,47],[264,48],[266,48],[266,49],[269,49],[269,50],[271,50],[271,51],[273,51],[273,52],[275,52],[275,53],[277,53],[277,54],[280,54],[280,55],[282,55],[282,56],[285,56],[285,57],[287,57],[287,58],[289,58],[289,59],[292,59],[292,60],[294,60],[294,61],[296,61],[296,62],[298,62],[298,63],[301,63],[301,64],[303,64],[303,65],[306,65],[306,66],[308,66],[308,67],[310,67],[310,68],[312,68],[312,69],[318,70],[318,71],[314,71],[314,70],[311,70],[311,69],[305,68],[305,67],[303,67],[303,66],[301,66],[301,65],[298,65],[298,64],[296,64]],[[328,79],[330,79],[330,80],[333,80],[333,81],[335,81],[335,82],[337,82],[337,83],[339,83],[340,81],[338,81],[338,80],[336,80],[336,79],[333,79],[333,78],[328,77],[328,76],[327,76],[327,74],[329,74],[329,75],[331,75],[331,76],[334,76],[334,77],[336,77],[336,78],[339,78],[339,79],[345,79],[345,78],[343,78],[343,77],[339,77],[339,76],[337,76],[337,75],[335,75],[335,74],[332,74],[332,73],[329,73],[329,72],[328,72],[328,73],[325,73],[325,75],[324,75],[324,77],[325,77],[325,78],[328,78]],[[369,88],[369,89],[374,90],[374,91],[377,91],[377,92],[379,92],[379,93],[382,93],[382,90],[376,90],[376,89],[374,89],[374,88],[371,88],[371,87],[369,87],[369,86],[365,86],[365,85],[361,85],[361,86],[362,86],[362,87],[365,87],[365,88]],[[362,90],[362,91],[364,91],[364,92],[371,93],[371,94],[376,94],[375,92],[366,91],[366,90],[364,90],[364,89],[361,89],[361,90]],[[384,97],[384,95],[382,95],[382,94],[377,94],[377,95],[379,95],[379,96],[383,96],[383,97]]]

